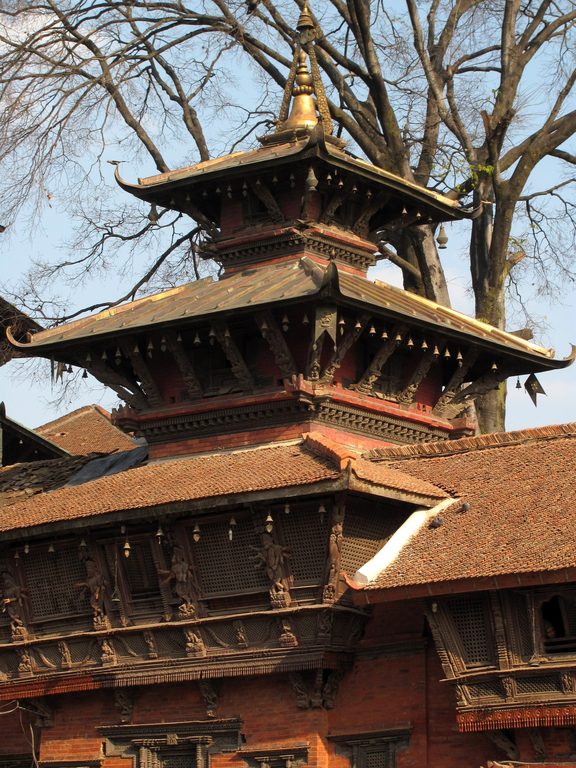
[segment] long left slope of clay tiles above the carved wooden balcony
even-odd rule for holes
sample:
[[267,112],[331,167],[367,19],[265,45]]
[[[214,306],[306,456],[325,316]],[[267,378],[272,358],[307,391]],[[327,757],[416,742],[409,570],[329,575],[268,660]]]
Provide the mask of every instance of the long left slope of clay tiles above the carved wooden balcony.
[[18,501],[0,515],[0,531],[340,477],[340,470],[331,462],[299,445],[193,456],[147,464]]

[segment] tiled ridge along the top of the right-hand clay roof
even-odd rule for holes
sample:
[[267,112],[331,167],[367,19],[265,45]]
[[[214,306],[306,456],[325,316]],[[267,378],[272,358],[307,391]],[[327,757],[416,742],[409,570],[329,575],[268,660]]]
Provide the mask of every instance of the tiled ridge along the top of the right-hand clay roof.
[[439,440],[433,443],[374,448],[364,453],[362,458],[369,461],[378,461],[389,458],[410,459],[421,456],[448,456],[455,453],[501,448],[508,445],[534,442],[536,440],[554,440],[569,436],[576,437],[576,422],[552,424],[545,427],[531,427],[512,432],[491,432],[485,435],[461,437],[456,440]]

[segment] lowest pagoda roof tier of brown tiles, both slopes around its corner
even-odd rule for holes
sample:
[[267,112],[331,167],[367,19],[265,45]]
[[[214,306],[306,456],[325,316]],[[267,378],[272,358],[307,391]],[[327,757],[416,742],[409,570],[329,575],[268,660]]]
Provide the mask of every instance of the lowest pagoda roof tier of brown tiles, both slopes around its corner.
[[[424,506],[447,495],[433,483],[373,464],[314,434],[298,443],[150,462],[102,477],[86,472],[91,458],[101,461],[98,456],[70,457],[0,469],[0,534],[45,532],[47,525],[85,526],[115,515],[126,520],[131,513],[141,517],[144,510],[181,513],[208,505],[213,511],[219,501],[277,500],[282,493],[349,489]],[[50,479],[51,466],[56,480]],[[82,468],[93,479],[76,484],[73,477]],[[29,490],[22,498],[24,488]]]

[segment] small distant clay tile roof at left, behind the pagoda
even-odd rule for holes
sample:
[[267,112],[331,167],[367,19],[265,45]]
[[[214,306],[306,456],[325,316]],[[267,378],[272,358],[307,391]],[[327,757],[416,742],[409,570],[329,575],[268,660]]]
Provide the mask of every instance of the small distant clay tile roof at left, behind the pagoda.
[[87,405],[35,430],[74,455],[129,451],[134,440],[110,421],[108,411]]

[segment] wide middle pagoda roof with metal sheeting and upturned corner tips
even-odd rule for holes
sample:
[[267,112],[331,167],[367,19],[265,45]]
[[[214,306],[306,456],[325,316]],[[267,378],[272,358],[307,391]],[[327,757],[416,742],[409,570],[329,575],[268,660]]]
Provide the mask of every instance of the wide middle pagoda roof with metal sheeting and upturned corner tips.
[[257,307],[328,297],[366,308],[376,316],[418,325],[424,331],[477,343],[494,351],[507,351],[540,369],[569,365],[576,352],[555,359],[552,349],[537,346],[449,307],[442,306],[382,281],[370,281],[330,263],[323,266],[310,257],[266,265],[214,281],[205,278],[153,296],[113,307],[66,325],[39,331],[19,342],[8,331],[12,344],[28,354],[48,355],[64,346],[98,337],[117,337],[146,329],[182,326],[225,313],[250,312]]

